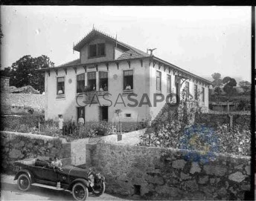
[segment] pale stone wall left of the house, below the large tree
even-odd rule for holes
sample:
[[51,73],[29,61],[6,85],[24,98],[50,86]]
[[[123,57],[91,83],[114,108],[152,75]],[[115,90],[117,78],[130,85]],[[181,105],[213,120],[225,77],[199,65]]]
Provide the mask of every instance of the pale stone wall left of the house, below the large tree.
[[45,95],[33,93],[1,93],[1,113],[23,113],[28,108],[42,112],[45,109]]

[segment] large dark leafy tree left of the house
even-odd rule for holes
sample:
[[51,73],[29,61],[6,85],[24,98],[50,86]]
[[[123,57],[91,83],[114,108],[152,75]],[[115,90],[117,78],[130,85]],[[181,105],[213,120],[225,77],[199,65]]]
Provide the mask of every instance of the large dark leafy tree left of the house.
[[38,72],[36,69],[45,67],[54,67],[54,63],[48,56],[42,55],[33,58],[26,55],[14,62],[11,67],[1,70],[1,74],[10,77],[10,86],[21,88],[31,85],[42,93],[45,90],[45,73]]

